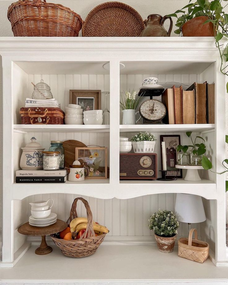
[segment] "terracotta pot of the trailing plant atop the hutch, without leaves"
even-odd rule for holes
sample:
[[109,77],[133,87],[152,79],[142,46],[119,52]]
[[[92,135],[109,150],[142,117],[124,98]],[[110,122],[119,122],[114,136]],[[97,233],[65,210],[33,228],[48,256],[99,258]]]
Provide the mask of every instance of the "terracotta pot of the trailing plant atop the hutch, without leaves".
[[214,37],[212,22],[204,24],[207,17],[200,16],[187,21],[182,26],[183,37]]

